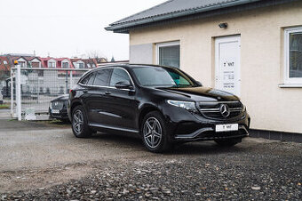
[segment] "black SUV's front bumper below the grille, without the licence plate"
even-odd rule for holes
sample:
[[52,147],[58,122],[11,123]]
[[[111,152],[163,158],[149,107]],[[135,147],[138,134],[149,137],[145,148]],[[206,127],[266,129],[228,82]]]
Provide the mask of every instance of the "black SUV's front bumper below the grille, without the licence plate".
[[[172,141],[214,141],[249,136],[250,116],[244,111],[231,119],[210,119],[202,114],[176,107],[164,107],[163,114],[170,128]],[[238,131],[216,132],[216,125],[238,124]]]

